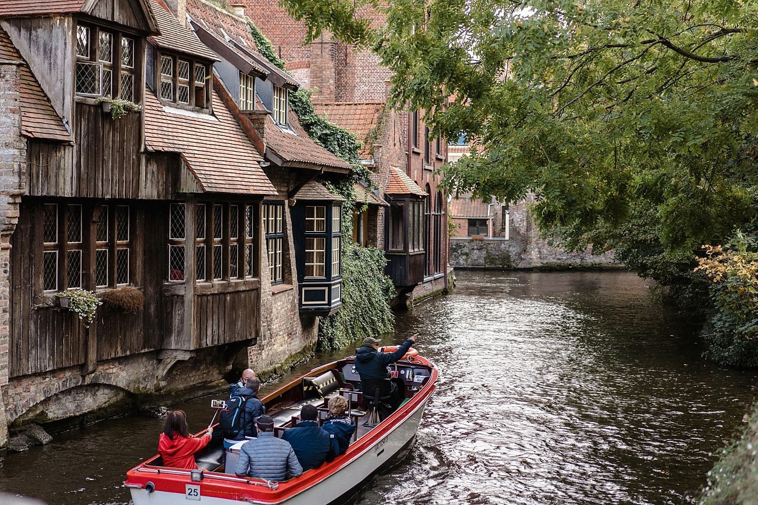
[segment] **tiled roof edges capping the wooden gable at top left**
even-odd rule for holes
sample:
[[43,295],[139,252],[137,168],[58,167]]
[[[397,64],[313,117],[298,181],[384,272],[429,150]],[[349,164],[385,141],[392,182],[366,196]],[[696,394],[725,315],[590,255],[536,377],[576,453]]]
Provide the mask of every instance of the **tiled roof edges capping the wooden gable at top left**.
[[[27,17],[45,16],[51,14],[92,14],[98,17],[98,11],[113,11],[99,8],[101,0],[0,0],[0,17]],[[129,0],[121,0],[127,2]],[[158,33],[158,23],[150,11],[149,0],[133,0],[139,4],[139,8],[147,23],[146,31]],[[134,26],[136,27],[136,26]]]

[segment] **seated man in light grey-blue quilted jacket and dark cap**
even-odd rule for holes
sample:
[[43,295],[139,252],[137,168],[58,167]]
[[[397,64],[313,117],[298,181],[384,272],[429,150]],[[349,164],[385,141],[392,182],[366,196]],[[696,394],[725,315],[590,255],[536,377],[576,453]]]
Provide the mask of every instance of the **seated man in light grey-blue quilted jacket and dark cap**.
[[[261,416],[255,421],[258,438],[246,441],[234,468],[238,477],[255,477],[267,481],[286,481],[302,474],[290,442],[274,436],[274,419]],[[289,431],[289,430],[288,430]]]

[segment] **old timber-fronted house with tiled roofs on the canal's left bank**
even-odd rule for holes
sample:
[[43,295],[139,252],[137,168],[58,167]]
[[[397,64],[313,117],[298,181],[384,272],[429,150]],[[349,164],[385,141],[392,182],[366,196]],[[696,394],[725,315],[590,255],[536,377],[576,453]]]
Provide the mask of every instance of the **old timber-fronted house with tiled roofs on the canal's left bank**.
[[[0,445],[8,426],[221,379],[240,351],[276,366],[339,308],[301,310],[290,210],[316,176],[337,180],[349,164],[287,117],[280,90],[298,85],[252,39],[211,50],[185,22],[189,12],[212,36],[211,21],[231,33],[239,19],[171,6],[0,5],[0,121],[17,132],[0,146],[13,149],[0,163]],[[229,72],[240,61],[249,67]],[[111,119],[105,96],[139,110]],[[87,326],[55,295],[77,288],[134,288],[144,303],[102,304]],[[86,407],[70,402],[87,391]]]

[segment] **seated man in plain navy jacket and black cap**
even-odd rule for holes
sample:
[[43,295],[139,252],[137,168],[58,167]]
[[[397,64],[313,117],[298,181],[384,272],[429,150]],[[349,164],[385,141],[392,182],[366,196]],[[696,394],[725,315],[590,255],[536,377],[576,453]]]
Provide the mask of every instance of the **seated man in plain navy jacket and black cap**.
[[340,451],[337,441],[325,432],[316,421],[318,410],[313,405],[303,405],[300,422],[288,429],[282,438],[292,445],[302,471],[318,468],[324,461],[334,460]]

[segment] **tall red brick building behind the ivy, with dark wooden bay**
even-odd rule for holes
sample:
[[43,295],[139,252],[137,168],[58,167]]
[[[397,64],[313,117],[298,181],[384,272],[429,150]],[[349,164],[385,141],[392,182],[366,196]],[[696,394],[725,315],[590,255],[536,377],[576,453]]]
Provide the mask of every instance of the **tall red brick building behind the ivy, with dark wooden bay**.
[[[448,289],[447,283],[447,213],[446,195],[438,185],[434,170],[447,161],[447,142],[428,139],[423,111],[390,110],[387,107],[387,83],[390,70],[381,67],[376,55],[337,42],[324,33],[308,45],[302,24],[292,20],[278,5],[262,0],[244,0],[244,13],[271,41],[287,70],[312,90],[312,100],[319,114],[358,136],[364,143],[362,162],[372,173],[375,196],[389,203],[369,205],[368,215],[360,217],[368,230],[364,241],[387,252],[387,273],[393,277],[400,303],[412,303]],[[366,17],[381,20],[366,11]],[[393,170],[399,169],[412,184],[421,189],[393,195],[387,192]],[[426,193],[426,195],[421,195]],[[395,206],[395,207],[393,207]],[[419,241],[406,245],[400,254],[387,233],[393,229],[393,208],[402,207],[409,220],[409,209],[421,208],[418,223]],[[390,214],[388,214],[390,213]],[[413,235],[413,230],[405,230]],[[356,237],[357,238],[357,237]],[[405,257],[402,257],[403,254]],[[395,266],[396,262],[400,262]],[[418,276],[400,276],[400,270],[418,272]],[[402,279],[400,278],[402,277]]]

